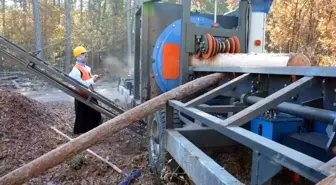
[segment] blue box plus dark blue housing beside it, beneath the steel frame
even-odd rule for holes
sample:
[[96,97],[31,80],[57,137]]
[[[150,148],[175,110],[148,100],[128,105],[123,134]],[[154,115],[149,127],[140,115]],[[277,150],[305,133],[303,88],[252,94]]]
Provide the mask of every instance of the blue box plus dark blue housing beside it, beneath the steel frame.
[[278,114],[276,117],[260,116],[251,120],[250,130],[265,138],[276,141],[321,161],[331,159],[327,155],[327,124],[305,122],[292,115]]

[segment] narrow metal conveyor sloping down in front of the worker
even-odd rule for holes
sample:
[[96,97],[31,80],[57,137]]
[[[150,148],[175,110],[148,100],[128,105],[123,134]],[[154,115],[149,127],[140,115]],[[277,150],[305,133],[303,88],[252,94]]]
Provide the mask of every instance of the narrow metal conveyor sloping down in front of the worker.
[[[105,114],[110,118],[113,118],[125,111],[113,101],[100,95],[94,90],[86,88],[84,85],[72,79],[70,76],[61,72],[51,64],[35,57],[25,49],[1,36],[0,56],[7,60],[14,61],[17,64],[20,64],[21,67],[25,68],[29,72],[32,72],[38,77],[43,78],[50,84],[54,85],[56,88],[62,90],[68,95],[76,98],[77,100],[85,103],[86,105]],[[88,97],[86,98],[81,96],[76,89],[86,92],[86,94],[88,94]],[[94,103],[92,101],[92,98],[98,100],[98,104]]]

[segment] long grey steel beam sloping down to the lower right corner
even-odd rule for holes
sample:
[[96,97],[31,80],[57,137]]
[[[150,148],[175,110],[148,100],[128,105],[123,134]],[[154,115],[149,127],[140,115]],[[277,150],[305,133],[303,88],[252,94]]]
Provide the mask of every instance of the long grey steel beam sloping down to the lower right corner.
[[[319,182],[330,175],[330,172],[318,169],[319,166],[324,164],[322,161],[269,140],[263,136],[257,135],[239,126],[223,126],[222,123],[224,120],[196,108],[187,107],[179,101],[171,100],[169,101],[169,105],[193,119],[199,120],[203,124],[224,134],[232,140],[258,151],[262,156],[268,158],[273,163],[277,163],[291,169],[312,182]],[[177,156],[173,155],[173,157],[175,158]]]

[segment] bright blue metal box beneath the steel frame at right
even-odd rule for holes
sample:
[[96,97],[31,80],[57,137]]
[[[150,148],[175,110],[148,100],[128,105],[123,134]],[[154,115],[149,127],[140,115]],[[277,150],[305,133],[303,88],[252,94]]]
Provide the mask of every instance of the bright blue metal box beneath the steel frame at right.
[[255,118],[251,121],[251,131],[258,134],[259,125],[262,126],[262,136],[279,143],[282,143],[284,135],[299,132],[300,126],[303,132],[306,130],[302,119],[290,115],[277,115],[275,119]]

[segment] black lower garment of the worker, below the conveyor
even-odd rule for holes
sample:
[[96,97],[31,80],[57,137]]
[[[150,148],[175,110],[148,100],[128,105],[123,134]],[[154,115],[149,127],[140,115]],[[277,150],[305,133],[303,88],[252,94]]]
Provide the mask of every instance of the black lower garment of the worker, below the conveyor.
[[[98,104],[97,100],[93,99]],[[76,120],[74,134],[85,133],[101,123],[100,112],[75,99]]]

